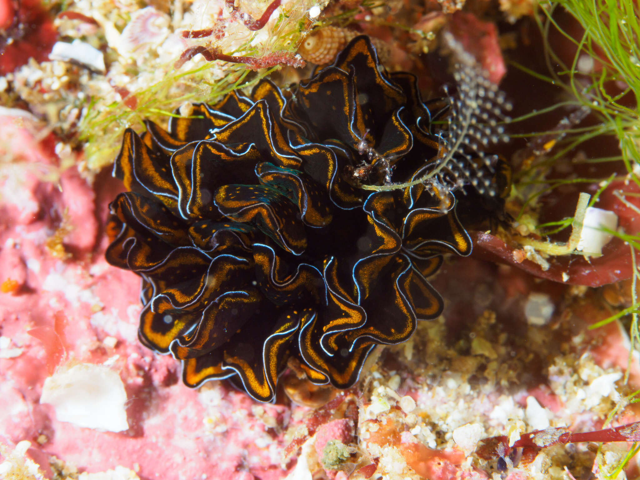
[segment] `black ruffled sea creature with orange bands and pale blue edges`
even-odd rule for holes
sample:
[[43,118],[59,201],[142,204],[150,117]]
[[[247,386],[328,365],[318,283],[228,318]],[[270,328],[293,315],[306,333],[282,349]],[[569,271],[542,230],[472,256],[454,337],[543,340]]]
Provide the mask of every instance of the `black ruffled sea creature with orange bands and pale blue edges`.
[[371,193],[346,173],[365,142],[412,179],[438,155],[428,131],[415,79],[362,36],[294,94],[262,80],[168,131],[128,130],[106,256],[142,278],[141,342],[181,360],[186,385],[231,378],[260,401],[291,357],[353,385],[376,344],[440,314],[426,277],[441,255],[471,250],[453,196]]

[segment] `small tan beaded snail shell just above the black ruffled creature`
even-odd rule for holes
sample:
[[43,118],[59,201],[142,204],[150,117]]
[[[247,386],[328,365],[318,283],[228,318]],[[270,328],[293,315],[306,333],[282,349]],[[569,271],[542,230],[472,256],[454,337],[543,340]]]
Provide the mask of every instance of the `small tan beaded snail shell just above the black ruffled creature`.
[[[340,27],[318,28],[305,38],[298,48],[300,56],[316,65],[331,63],[349,41],[355,36],[361,35],[355,30]],[[379,38],[371,38],[371,43],[376,47],[381,61],[387,60],[389,47]]]

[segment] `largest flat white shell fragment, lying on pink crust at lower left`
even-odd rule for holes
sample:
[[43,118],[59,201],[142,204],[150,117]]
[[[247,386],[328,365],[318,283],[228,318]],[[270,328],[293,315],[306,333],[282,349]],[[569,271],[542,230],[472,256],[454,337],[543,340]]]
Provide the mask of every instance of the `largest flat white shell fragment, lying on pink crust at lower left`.
[[127,393],[120,375],[104,365],[79,364],[44,381],[40,403],[56,409],[61,422],[108,431],[129,429]]

